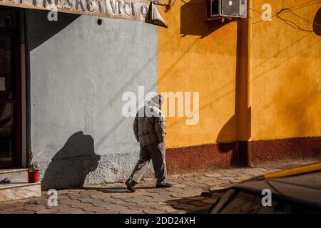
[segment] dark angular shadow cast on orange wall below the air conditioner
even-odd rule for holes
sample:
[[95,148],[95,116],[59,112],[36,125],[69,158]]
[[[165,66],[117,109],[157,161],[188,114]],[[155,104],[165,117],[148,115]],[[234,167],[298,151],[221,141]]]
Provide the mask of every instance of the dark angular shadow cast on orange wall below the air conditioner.
[[183,36],[205,38],[232,21],[225,20],[223,23],[220,19],[207,21],[205,0],[191,0],[180,7],[180,34]]

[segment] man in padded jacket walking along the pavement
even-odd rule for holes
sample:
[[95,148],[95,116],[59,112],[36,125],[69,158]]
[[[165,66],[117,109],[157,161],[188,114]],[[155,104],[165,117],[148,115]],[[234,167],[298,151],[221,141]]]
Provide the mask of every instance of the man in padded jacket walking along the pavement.
[[172,187],[166,182],[165,163],[165,116],[161,111],[164,98],[156,95],[145,107],[138,110],[133,131],[141,146],[139,160],[126,181],[128,191],[135,192],[135,185],[141,180],[150,160],[153,162],[156,187]]

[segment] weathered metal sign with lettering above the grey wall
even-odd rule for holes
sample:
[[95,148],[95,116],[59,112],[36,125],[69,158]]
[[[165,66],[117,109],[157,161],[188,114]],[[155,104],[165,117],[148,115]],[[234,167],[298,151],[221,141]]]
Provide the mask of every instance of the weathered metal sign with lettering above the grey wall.
[[[146,21],[146,16],[149,15],[148,11],[157,11],[149,0],[0,0],[0,6],[42,9],[147,23],[153,22]],[[159,24],[157,25],[159,26]]]

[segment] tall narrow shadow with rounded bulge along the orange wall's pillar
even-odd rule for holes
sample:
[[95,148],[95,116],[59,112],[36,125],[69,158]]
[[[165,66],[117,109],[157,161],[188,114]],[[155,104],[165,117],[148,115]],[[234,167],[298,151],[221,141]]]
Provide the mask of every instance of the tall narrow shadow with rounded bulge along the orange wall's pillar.
[[[250,165],[248,140],[251,137],[251,107],[248,107],[248,34],[243,31],[247,26],[245,20],[238,21],[238,40],[236,46],[235,71],[235,108],[234,115],[218,133],[218,148],[220,152],[230,153],[231,166]],[[228,135],[236,131],[235,141],[226,142]]]

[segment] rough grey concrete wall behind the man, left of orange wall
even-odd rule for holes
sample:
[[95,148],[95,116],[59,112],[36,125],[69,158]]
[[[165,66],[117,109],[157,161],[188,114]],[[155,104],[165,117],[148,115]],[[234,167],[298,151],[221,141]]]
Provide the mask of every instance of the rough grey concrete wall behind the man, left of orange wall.
[[[43,189],[125,180],[138,159],[121,100],[156,90],[157,27],[28,11],[30,145]],[[151,167],[149,170],[151,175]]]

